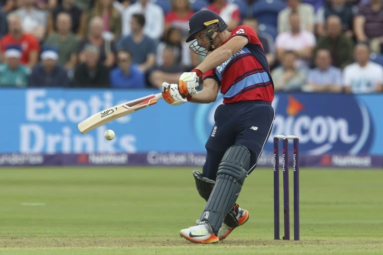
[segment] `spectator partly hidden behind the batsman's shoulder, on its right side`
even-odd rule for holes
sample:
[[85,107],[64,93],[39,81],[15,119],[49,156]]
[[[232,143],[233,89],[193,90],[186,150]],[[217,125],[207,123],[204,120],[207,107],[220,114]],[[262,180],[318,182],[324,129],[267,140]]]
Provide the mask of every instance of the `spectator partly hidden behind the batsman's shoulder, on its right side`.
[[258,20],[254,17],[246,17],[242,21],[242,25],[250,26],[257,33],[259,41],[262,43],[263,50],[266,53],[267,62],[270,68],[275,64],[275,44],[274,39],[267,33],[258,30]]

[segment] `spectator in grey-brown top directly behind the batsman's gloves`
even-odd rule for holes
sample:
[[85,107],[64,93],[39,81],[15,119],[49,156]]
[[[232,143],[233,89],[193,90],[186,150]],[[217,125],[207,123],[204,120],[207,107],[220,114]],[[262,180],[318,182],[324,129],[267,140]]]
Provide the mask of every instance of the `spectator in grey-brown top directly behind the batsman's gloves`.
[[178,84],[181,74],[186,70],[177,63],[176,59],[177,54],[173,47],[166,47],[163,50],[162,65],[155,67],[149,75],[149,81],[153,87],[161,89],[164,81]]

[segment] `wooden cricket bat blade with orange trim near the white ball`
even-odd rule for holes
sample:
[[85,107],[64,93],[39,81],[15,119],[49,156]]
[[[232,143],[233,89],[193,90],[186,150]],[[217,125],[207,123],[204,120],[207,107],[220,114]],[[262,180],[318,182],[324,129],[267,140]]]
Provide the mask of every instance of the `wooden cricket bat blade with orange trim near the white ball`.
[[154,105],[161,98],[161,93],[158,93],[113,106],[83,120],[77,125],[77,128],[81,133],[89,132],[94,128],[98,128],[125,115]]

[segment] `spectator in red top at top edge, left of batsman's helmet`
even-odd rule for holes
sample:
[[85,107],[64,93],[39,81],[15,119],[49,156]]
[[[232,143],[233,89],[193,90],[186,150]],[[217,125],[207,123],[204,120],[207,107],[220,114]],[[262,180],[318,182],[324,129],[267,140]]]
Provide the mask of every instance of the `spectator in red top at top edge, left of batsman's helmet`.
[[182,36],[189,35],[188,22],[194,11],[190,8],[189,0],[171,0],[172,10],[165,15],[165,31],[164,36],[168,33],[169,28],[177,27],[182,31]]

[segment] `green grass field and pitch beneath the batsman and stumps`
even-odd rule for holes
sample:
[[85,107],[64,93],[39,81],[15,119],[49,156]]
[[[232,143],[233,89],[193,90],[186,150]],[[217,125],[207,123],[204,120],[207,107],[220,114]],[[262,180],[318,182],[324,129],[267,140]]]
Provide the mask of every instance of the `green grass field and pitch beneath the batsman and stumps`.
[[0,168],[0,254],[383,254],[383,170],[301,168],[302,240],[275,241],[272,169],[259,168],[238,199],[249,221],[212,245],[179,237],[204,206],[192,170]]

